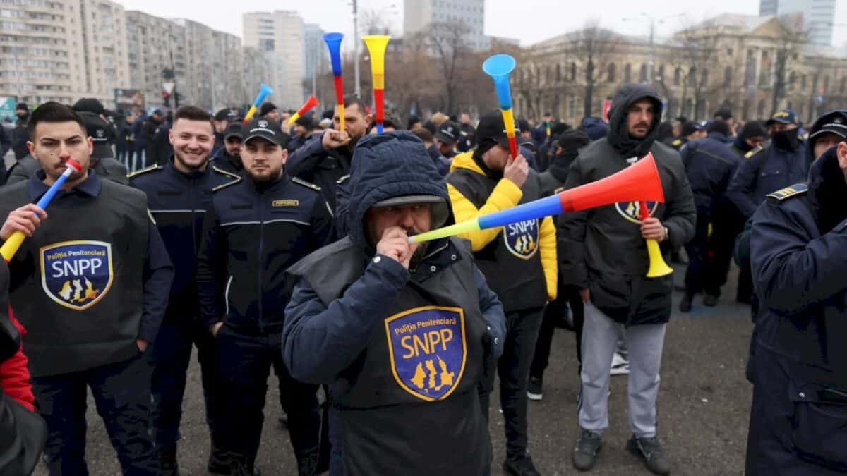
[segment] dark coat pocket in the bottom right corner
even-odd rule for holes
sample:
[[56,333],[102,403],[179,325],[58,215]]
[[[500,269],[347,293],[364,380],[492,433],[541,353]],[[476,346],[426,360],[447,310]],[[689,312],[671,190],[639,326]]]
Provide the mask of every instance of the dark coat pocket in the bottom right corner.
[[822,389],[789,383],[794,401],[791,440],[798,456],[847,471],[847,402],[828,401]]

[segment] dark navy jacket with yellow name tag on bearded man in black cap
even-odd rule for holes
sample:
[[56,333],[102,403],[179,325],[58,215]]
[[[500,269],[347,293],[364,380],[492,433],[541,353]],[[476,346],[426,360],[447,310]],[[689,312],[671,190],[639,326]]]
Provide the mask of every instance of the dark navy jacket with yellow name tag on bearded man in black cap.
[[203,222],[197,292],[204,324],[244,333],[282,328],[291,285],[285,269],[334,237],[319,187],[246,179],[215,191]]

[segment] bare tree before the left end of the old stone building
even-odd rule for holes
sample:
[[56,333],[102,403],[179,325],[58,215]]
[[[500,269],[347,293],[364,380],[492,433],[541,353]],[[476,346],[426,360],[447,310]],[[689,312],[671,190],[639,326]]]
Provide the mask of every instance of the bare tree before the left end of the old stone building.
[[601,77],[601,69],[617,53],[620,44],[619,36],[612,30],[601,28],[596,19],[589,20],[582,30],[575,33],[571,42],[571,55],[581,58],[582,73],[585,80],[583,95],[583,114],[592,115],[594,106],[594,91]]

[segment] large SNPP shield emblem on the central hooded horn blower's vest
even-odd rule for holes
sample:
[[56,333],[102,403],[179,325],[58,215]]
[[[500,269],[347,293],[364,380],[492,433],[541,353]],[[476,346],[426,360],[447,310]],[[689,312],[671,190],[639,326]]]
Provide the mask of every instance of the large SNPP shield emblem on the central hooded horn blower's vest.
[[462,380],[468,345],[461,307],[416,307],[385,319],[391,372],[424,401],[445,399]]

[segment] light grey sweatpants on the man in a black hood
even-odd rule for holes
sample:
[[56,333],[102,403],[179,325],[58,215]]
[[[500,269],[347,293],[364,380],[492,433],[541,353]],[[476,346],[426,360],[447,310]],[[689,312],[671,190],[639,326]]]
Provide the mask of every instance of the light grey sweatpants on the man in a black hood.
[[629,351],[629,426],[641,437],[656,436],[656,396],[666,324],[625,327],[585,304],[582,335],[582,386],[579,393],[579,426],[597,433],[609,428],[609,367],[617,340]]

